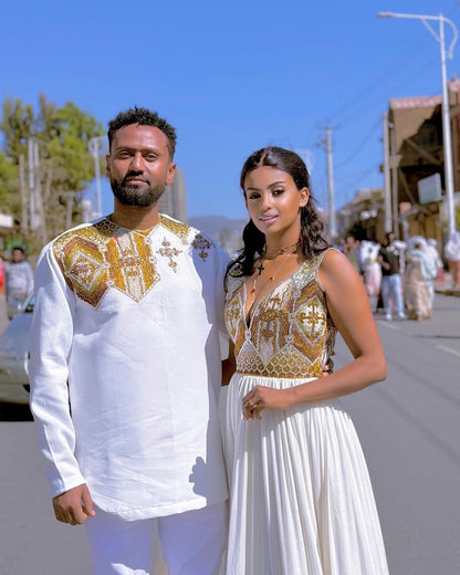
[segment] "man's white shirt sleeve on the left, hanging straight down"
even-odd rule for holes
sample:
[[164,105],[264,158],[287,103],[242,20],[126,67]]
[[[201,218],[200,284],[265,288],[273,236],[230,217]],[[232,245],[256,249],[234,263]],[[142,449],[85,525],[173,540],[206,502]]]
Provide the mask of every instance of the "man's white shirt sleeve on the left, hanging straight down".
[[75,433],[69,406],[73,314],[74,295],[49,245],[35,270],[29,376],[31,410],[48,462],[52,496],[85,482],[74,456]]

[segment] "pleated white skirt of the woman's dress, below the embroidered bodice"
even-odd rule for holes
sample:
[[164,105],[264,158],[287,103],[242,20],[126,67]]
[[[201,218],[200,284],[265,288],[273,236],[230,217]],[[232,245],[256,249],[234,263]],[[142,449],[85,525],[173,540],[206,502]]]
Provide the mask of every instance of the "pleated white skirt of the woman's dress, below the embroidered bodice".
[[299,383],[234,374],[222,388],[230,483],[226,574],[387,575],[366,461],[341,401],[242,418],[241,400],[255,385]]

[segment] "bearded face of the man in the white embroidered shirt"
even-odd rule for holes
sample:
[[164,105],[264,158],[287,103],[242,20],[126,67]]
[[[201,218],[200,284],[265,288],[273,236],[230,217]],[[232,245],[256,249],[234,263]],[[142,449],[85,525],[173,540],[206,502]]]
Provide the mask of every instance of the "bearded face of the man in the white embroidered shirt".
[[119,128],[106,160],[114,196],[125,206],[151,206],[172,184],[176,164],[169,158],[168,139],[154,126]]

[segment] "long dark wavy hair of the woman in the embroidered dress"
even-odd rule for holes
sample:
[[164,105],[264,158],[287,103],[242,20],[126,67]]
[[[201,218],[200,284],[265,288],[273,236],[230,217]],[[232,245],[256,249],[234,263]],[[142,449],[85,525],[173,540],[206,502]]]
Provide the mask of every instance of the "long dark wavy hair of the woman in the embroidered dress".
[[[289,149],[270,146],[259,149],[249,156],[244,161],[240,176],[240,186],[244,192],[244,180],[252,170],[263,166],[281,169],[289,174],[294,180],[299,190],[307,188],[310,198],[303,208],[301,208],[301,249],[305,258],[317,255],[330,247],[330,243],[323,237],[325,224],[320,219],[315,200],[312,196],[310,174],[305,163],[295,151]],[[252,275],[254,272],[254,261],[262,255],[265,245],[265,236],[258,230],[252,220],[250,220],[243,230],[243,250],[230,262],[227,273],[233,268],[238,268],[240,273],[237,275]],[[233,272],[232,272],[233,274]]]

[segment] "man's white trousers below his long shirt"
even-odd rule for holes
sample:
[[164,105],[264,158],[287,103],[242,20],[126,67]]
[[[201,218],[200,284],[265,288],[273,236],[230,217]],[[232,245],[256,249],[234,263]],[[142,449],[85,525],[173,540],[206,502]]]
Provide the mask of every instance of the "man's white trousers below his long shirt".
[[[227,534],[227,503],[166,518],[126,522],[96,510],[85,523],[94,575],[148,575],[159,534],[168,575],[218,575]],[[158,555],[159,550],[156,550]]]

